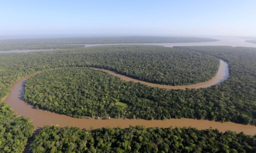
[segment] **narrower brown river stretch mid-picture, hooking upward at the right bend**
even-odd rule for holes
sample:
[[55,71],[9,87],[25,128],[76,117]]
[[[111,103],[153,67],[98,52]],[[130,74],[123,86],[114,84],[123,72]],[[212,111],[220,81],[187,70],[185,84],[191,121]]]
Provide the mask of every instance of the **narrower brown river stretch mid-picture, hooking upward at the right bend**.
[[122,78],[125,81],[139,82],[139,83],[151,86],[151,87],[159,87],[159,88],[166,88],[166,89],[206,88],[206,87],[210,87],[212,85],[215,85],[215,84],[225,81],[229,75],[228,64],[226,62],[224,62],[223,60],[220,60],[219,70],[218,70],[217,74],[211,80],[208,80],[208,81],[202,82],[202,83],[198,83],[198,84],[184,85],[184,86],[169,86],[169,85],[161,85],[161,84],[156,84],[156,83],[149,83],[149,82],[133,79],[133,78],[127,77],[125,75],[118,74],[114,71],[110,71],[110,70],[105,70],[105,69],[100,69],[100,68],[92,68],[92,69],[107,72],[109,74],[112,74],[119,78]]

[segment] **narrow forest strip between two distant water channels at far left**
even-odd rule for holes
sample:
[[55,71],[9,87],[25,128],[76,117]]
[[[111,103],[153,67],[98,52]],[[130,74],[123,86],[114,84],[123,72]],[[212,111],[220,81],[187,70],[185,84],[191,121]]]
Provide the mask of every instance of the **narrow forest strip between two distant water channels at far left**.
[[1,50],[26,50],[26,49],[62,49],[78,48],[84,45],[0,45]]

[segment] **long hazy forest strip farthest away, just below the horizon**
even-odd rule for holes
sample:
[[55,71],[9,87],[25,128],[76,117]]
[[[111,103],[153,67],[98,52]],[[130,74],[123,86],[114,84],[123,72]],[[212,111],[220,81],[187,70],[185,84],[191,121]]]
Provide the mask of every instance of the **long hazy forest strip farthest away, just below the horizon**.
[[196,37],[81,37],[81,38],[45,38],[0,40],[1,44],[93,44],[93,43],[168,43],[168,42],[209,42],[211,38]]

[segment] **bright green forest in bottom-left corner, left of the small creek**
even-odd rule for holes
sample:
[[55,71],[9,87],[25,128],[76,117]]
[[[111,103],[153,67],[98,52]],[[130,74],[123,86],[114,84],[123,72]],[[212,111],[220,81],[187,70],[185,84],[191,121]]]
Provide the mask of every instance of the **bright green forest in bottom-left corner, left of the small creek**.
[[23,152],[33,129],[27,118],[17,116],[9,106],[0,103],[0,152]]

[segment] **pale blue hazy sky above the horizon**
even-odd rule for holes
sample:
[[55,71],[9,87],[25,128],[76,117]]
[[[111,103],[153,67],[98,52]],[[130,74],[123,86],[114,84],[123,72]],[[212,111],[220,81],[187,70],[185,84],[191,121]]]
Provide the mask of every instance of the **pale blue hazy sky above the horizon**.
[[6,36],[256,36],[256,0],[0,0]]

